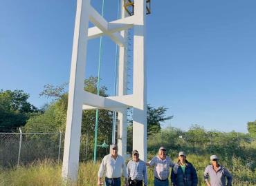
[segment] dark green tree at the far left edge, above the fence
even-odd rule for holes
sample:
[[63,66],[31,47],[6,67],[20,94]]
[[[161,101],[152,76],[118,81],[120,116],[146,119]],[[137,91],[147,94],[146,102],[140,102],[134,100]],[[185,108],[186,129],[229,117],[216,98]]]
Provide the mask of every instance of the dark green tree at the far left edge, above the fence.
[[39,112],[28,98],[29,94],[22,90],[0,90],[0,131],[15,130]]

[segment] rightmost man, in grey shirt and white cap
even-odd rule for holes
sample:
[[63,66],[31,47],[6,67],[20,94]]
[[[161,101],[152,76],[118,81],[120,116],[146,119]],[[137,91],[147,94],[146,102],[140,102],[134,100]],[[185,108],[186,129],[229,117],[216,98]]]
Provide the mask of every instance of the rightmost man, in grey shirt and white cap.
[[[204,179],[208,186],[230,186],[232,184],[232,175],[228,172],[228,169],[219,165],[219,158],[216,155],[210,156],[212,165],[208,165],[205,168]],[[210,183],[208,178],[210,177]],[[226,178],[228,183],[226,184]]]

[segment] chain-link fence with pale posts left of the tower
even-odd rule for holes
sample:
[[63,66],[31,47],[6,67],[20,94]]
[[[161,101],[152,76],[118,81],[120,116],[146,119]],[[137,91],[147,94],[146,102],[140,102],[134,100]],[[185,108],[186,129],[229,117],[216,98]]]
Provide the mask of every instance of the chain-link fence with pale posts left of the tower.
[[60,161],[62,149],[62,132],[0,133],[0,167],[26,165],[46,158]]

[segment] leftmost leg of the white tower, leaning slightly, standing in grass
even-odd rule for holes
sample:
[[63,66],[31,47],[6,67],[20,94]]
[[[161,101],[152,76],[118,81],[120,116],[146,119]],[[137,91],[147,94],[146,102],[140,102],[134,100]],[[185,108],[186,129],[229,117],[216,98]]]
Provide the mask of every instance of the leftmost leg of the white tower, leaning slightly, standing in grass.
[[82,92],[86,63],[90,0],[77,0],[68,91],[62,179],[75,182],[79,166]]

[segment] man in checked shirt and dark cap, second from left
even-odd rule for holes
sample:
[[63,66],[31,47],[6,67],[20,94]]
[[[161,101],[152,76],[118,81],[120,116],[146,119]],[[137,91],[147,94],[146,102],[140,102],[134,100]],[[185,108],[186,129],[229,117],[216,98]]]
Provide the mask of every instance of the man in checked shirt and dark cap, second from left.
[[127,164],[129,186],[147,186],[147,167],[144,161],[141,161],[137,150],[131,152],[132,160]]

